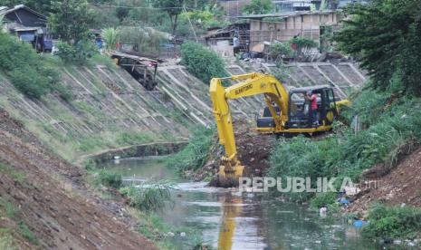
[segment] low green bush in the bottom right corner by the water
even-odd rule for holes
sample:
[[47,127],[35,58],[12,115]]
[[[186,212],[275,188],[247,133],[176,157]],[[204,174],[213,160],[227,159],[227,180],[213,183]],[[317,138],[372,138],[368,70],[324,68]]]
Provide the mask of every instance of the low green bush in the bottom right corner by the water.
[[362,230],[368,238],[414,239],[421,236],[421,209],[375,204]]

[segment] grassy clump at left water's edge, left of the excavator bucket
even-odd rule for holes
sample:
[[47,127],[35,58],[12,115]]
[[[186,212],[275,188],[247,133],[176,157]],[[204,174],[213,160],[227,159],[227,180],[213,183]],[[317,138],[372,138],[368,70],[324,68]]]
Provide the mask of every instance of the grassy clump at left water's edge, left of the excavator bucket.
[[143,211],[156,211],[171,201],[171,187],[165,182],[143,183],[140,186],[123,187],[120,193],[129,197],[129,205]]

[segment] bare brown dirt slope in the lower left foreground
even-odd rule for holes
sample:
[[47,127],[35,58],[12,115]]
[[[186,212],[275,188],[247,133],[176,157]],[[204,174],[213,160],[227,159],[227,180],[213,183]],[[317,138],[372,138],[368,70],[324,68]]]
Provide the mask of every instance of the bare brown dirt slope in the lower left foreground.
[[[19,207],[19,219],[40,248],[156,248],[130,229],[120,204],[89,195],[81,169],[50,154],[5,111],[0,111],[0,160],[7,168],[0,171],[0,197]],[[0,220],[0,226],[7,225],[13,226],[6,218]],[[21,248],[36,248],[13,235]]]

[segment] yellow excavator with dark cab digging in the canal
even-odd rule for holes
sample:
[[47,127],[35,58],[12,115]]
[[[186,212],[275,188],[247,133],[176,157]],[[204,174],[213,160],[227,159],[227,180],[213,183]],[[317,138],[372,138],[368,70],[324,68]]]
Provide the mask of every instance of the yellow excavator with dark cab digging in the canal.
[[[225,88],[222,84],[225,80],[242,82]],[[317,97],[318,116],[315,123],[311,120],[310,101],[305,98],[309,91]],[[237,158],[228,100],[263,94],[266,108],[263,115],[257,118],[256,130],[276,134],[312,134],[331,130],[340,106],[348,106],[350,103],[348,100],[336,100],[332,88],[328,85],[293,88],[287,91],[282,82],[273,75],[258,72],[214,78],[210,82],[209,92],[214,105],[219,142],[225,148],[223,166],[218,172],[219,183],[225,182],[223,186],[234,186],[244,170]]]

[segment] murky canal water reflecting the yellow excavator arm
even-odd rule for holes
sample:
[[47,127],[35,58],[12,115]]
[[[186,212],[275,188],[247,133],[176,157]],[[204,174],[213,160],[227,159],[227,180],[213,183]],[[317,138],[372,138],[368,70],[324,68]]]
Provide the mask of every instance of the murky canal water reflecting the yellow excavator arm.
[[[170,225],[201,232],[215,249],[375,249],[359,229],[341,219],[321,218],[308,207],[236,189],[187,182],[160,159],[122,159],[106,166],[126,177],[166,178],[176,182],[174,206],[160,216]],[[175,236],[179,249],[194,242]]]

